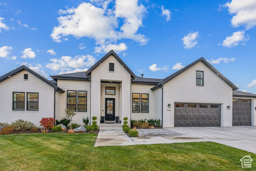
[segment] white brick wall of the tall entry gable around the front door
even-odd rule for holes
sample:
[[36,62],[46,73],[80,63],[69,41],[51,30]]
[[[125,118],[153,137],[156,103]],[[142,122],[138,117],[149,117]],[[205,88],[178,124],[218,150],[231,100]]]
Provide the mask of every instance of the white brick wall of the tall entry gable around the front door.
[[[109,72],[108,66],[109,63],[115,64],[115,72]],[[91,115],[97,116],[97,123],[100,124],[100,81],[101,80],[110,80],[110,81],[119,81],[122,82],[121,85],[121,94],[122,100],[120,104],[120,110],[122,111],[122,123],[123,118],[128,117],[128,124],[130,124],[130,92],[131,92],[131,76],[126,71],[126,69],[114,58],[114,56],[108,57],[100,66],[98,66],[91,73],[91,93],[92,93],[92,106],[91,106]]]

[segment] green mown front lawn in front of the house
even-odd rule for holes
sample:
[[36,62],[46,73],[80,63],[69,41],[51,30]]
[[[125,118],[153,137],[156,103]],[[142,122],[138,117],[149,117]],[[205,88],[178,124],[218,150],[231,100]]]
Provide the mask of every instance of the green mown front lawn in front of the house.
[[256,154],[213,142],[93,147],[97,134],[0,135],[0,170],[244,170]]

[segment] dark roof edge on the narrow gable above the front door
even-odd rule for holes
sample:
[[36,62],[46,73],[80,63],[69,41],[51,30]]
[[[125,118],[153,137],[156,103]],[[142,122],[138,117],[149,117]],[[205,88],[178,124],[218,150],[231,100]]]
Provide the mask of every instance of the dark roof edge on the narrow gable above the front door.
[[91,68],[89,68],[89,70],[86,71],[86,76],[91,74],[93,70],[95,70],[102,62],[104,62],[111,55],[113,55],[116,58],[116,60],[127,70],[129,74],[131,74],[133,78],[136,77],[132,70],[130,70],[130,68],[128,68],[128,66],[119,58],[119,56],[114,52],[114,50],[110,50],[110,52],[103,56],[103,58],[96,62],[96,64],[94,64]]

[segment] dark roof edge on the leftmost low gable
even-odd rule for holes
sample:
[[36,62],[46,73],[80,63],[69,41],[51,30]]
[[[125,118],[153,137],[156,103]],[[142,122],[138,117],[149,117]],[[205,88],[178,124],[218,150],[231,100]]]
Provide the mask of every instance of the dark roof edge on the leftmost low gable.
[[0,77],[0,82],[3,82],[4,80],[7,80],[8,78],[11,78],[12,76],[22,72],[22,71],[28,71],[31,74],[33,74],[34,76],[36,76],[37,78],[39,78],[40,80],[42,80],[43,82],[45,82],[46,84],[52,86],[56,91],[59,91],[60,93],[64,93],[65,91],[61,88],[59,88],[57,85],[54,85],[52,82],[50,82],[49,80],[47,80],[46,78],[44,78],[43,76],[41,76],[40,74],[37,74],[36,72],[34,72],[33,70],[31,70],[30,68],[22,65],[19,68],[16,68],[15,70],[12,70],[11,72],[8,72],[7,74],[4,74],[3,76]]

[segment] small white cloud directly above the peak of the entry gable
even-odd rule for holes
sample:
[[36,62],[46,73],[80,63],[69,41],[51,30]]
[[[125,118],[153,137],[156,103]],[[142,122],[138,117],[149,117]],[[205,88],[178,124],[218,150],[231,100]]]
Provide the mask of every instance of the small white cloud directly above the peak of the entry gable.
[[114,50],[115,52],[119,53],[127,49],[126,44],[102,44],[100,47],[95,47],[96,53],[108,53],[110,50]]

